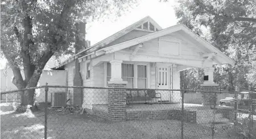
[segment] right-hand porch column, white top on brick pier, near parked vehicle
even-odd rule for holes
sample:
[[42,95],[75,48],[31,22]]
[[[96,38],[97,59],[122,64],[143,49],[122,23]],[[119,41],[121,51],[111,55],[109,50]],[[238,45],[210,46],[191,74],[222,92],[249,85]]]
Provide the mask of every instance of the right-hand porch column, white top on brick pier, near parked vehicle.
[[218,84],[215,84],[215,82],[213,81],[213,72],[213,67],[204,69],[204,84],[201,84],[203,105],[214,105],[214,102],[217,101],[217,94],[215,97],[214,92],[218,91]]

